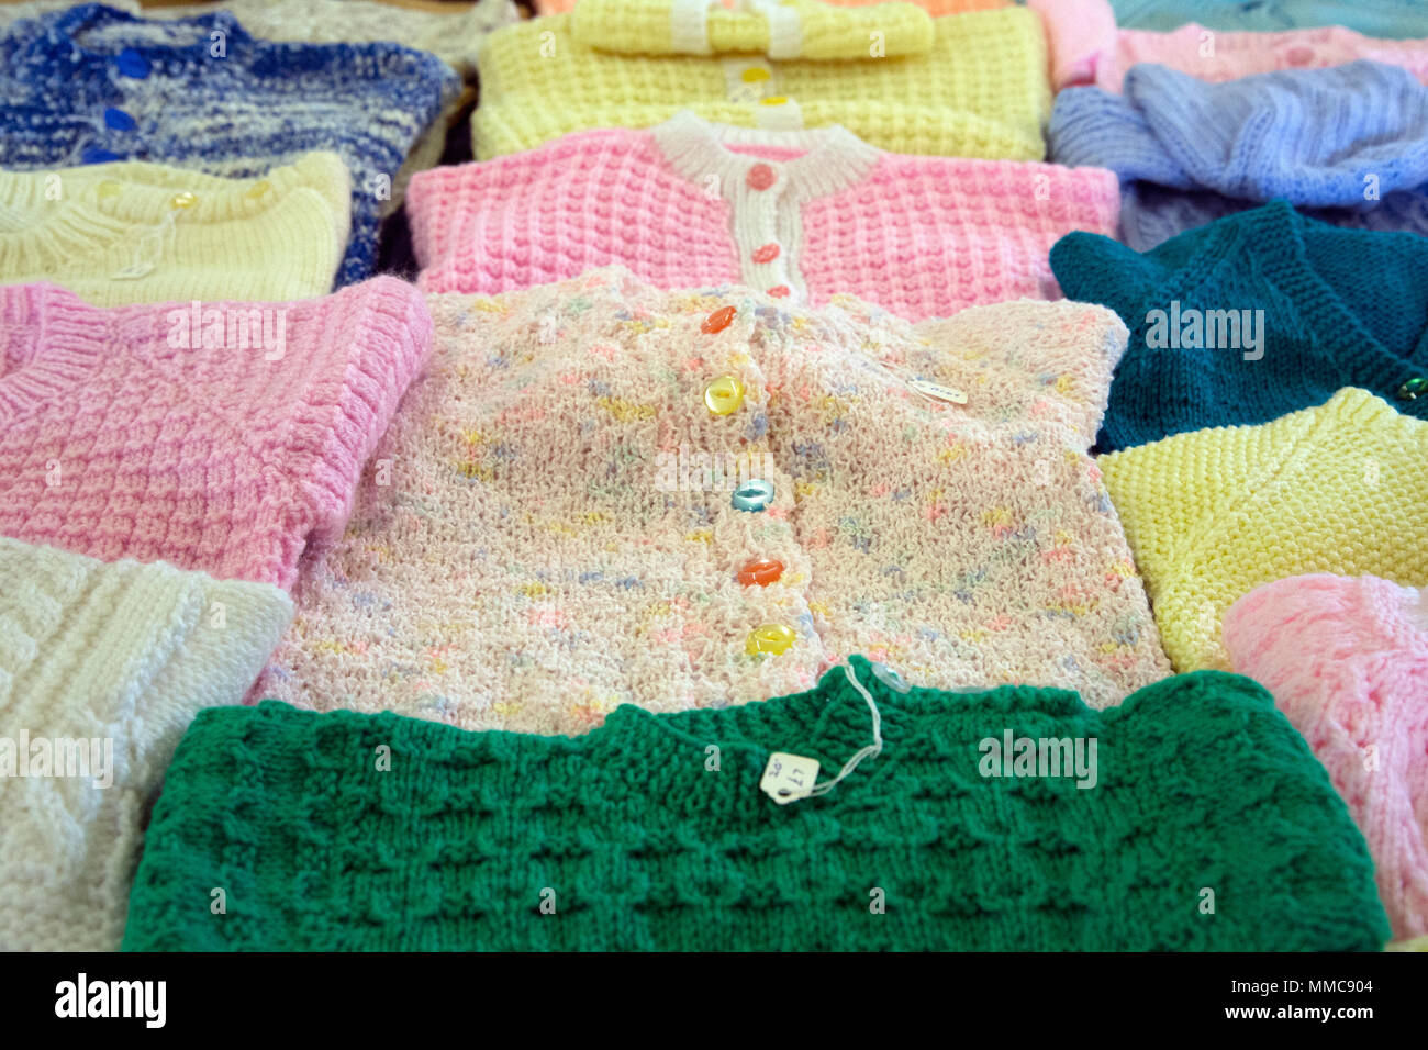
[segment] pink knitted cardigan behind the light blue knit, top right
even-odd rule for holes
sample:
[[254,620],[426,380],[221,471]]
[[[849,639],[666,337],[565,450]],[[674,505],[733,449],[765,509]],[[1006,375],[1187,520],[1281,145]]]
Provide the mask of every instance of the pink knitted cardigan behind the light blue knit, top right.
[[1375,40],[1342,26],[1282,33],[1221,33],[1190,23],[1171,33],[1115,27],[1110,0],[1027,0],[1041,13],[1060,91],[1095,84],[1120,91],[1125,71],[1154,61],[1221,81],[1285,69],[1322,69],[1372,59],[1402,66],[1428,84],[1428,40]]

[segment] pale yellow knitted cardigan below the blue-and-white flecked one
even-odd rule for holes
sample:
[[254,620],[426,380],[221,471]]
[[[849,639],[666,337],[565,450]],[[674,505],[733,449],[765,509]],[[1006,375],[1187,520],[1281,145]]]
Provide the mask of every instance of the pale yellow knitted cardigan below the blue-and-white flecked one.
[[99,306],[321,296],[350,227],[336,153],[261,180],[143,161],[0,171],[0,283],[53,281]]

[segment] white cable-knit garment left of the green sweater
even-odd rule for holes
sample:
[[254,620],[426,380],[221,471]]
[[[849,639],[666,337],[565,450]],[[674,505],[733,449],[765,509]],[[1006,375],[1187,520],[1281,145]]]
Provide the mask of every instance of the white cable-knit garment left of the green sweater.
[[291,613],[271,584],[0,539],[0,950],[119,949],[178,739]]

